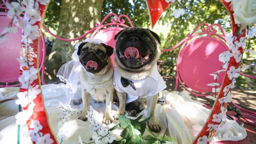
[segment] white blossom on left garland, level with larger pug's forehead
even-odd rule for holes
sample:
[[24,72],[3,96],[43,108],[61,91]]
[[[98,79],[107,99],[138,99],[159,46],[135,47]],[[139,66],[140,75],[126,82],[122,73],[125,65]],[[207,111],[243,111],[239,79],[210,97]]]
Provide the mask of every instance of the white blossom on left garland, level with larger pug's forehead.
[[28,36],[31,40],[35,40],[37,37],[40,36],[38,26],[32,26],[30,24],[27,24],[24,28],[24,36]]

